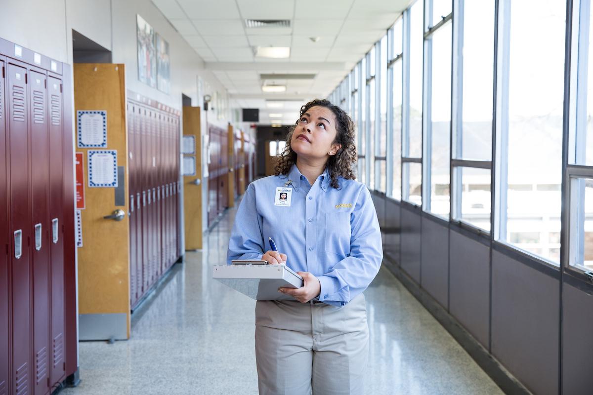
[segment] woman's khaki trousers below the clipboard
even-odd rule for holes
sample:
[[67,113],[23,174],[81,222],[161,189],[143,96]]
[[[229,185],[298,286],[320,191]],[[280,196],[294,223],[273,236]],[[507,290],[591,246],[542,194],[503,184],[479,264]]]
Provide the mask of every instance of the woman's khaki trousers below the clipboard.
[[260,395],[362,395],[368,339],[362,294],[343,307],[257,301]]

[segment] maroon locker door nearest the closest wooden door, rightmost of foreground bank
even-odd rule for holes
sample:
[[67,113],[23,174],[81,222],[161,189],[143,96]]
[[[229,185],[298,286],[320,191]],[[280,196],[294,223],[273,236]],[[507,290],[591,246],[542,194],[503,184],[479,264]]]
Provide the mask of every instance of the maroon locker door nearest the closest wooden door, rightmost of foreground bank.
[[50,385],[65,375],[64,362],[64,242],[63,242],[63,155],[62,155],[62,81],[47,78],[49,98],[49,218],[52,284],[52,333],[50,349]]

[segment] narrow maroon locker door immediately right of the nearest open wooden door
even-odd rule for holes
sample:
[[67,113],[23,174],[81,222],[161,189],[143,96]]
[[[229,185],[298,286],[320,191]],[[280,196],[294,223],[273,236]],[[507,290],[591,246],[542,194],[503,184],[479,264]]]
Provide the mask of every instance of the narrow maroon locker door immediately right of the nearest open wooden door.
[[134,143],[136,130],[134,129],[134,118],[136,117],[136,106],[127,103],[127,150],[128,150],[128,172],[129,172],[129,217],[130,217],[130,307],[136,302],[136,157],[134,155]]

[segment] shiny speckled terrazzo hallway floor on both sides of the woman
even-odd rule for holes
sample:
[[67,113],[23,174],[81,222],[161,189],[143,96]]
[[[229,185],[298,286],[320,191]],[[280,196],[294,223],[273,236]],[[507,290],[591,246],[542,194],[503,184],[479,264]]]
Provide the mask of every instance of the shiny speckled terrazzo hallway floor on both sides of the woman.
[[[81,383],[60,395],[257,394],[255,301],[212,280],[235,210],[187,252],[133,314],[132,338],[79,343]],[[449,333],[382,268],[365,292],[366,394],[502,394]]]

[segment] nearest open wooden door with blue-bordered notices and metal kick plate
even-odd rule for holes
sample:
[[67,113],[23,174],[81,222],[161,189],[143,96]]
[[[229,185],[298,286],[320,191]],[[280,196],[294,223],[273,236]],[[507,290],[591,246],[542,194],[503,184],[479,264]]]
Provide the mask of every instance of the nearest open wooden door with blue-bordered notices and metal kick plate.
[[[107,113],[106,147],[81,148],[78,147],[81,142],[76,139],[76,150],[84,153],[86,165],[83,246],[78,249],[79,335],[81,340],[127,339],[130,334],[130,225],[126,198],[128,147],[124,65],[75,64],[74,107],[77,118],[78,111]],[[88,157],[97,155],[91,153],[97,150],[116,150],[117,187],[89,186],[93,177]],[[101,158],[103,165],[94,171],[109,169],[106,156]],[[115,214],[116,210],[125,213],[121,220],[104,218]]]

